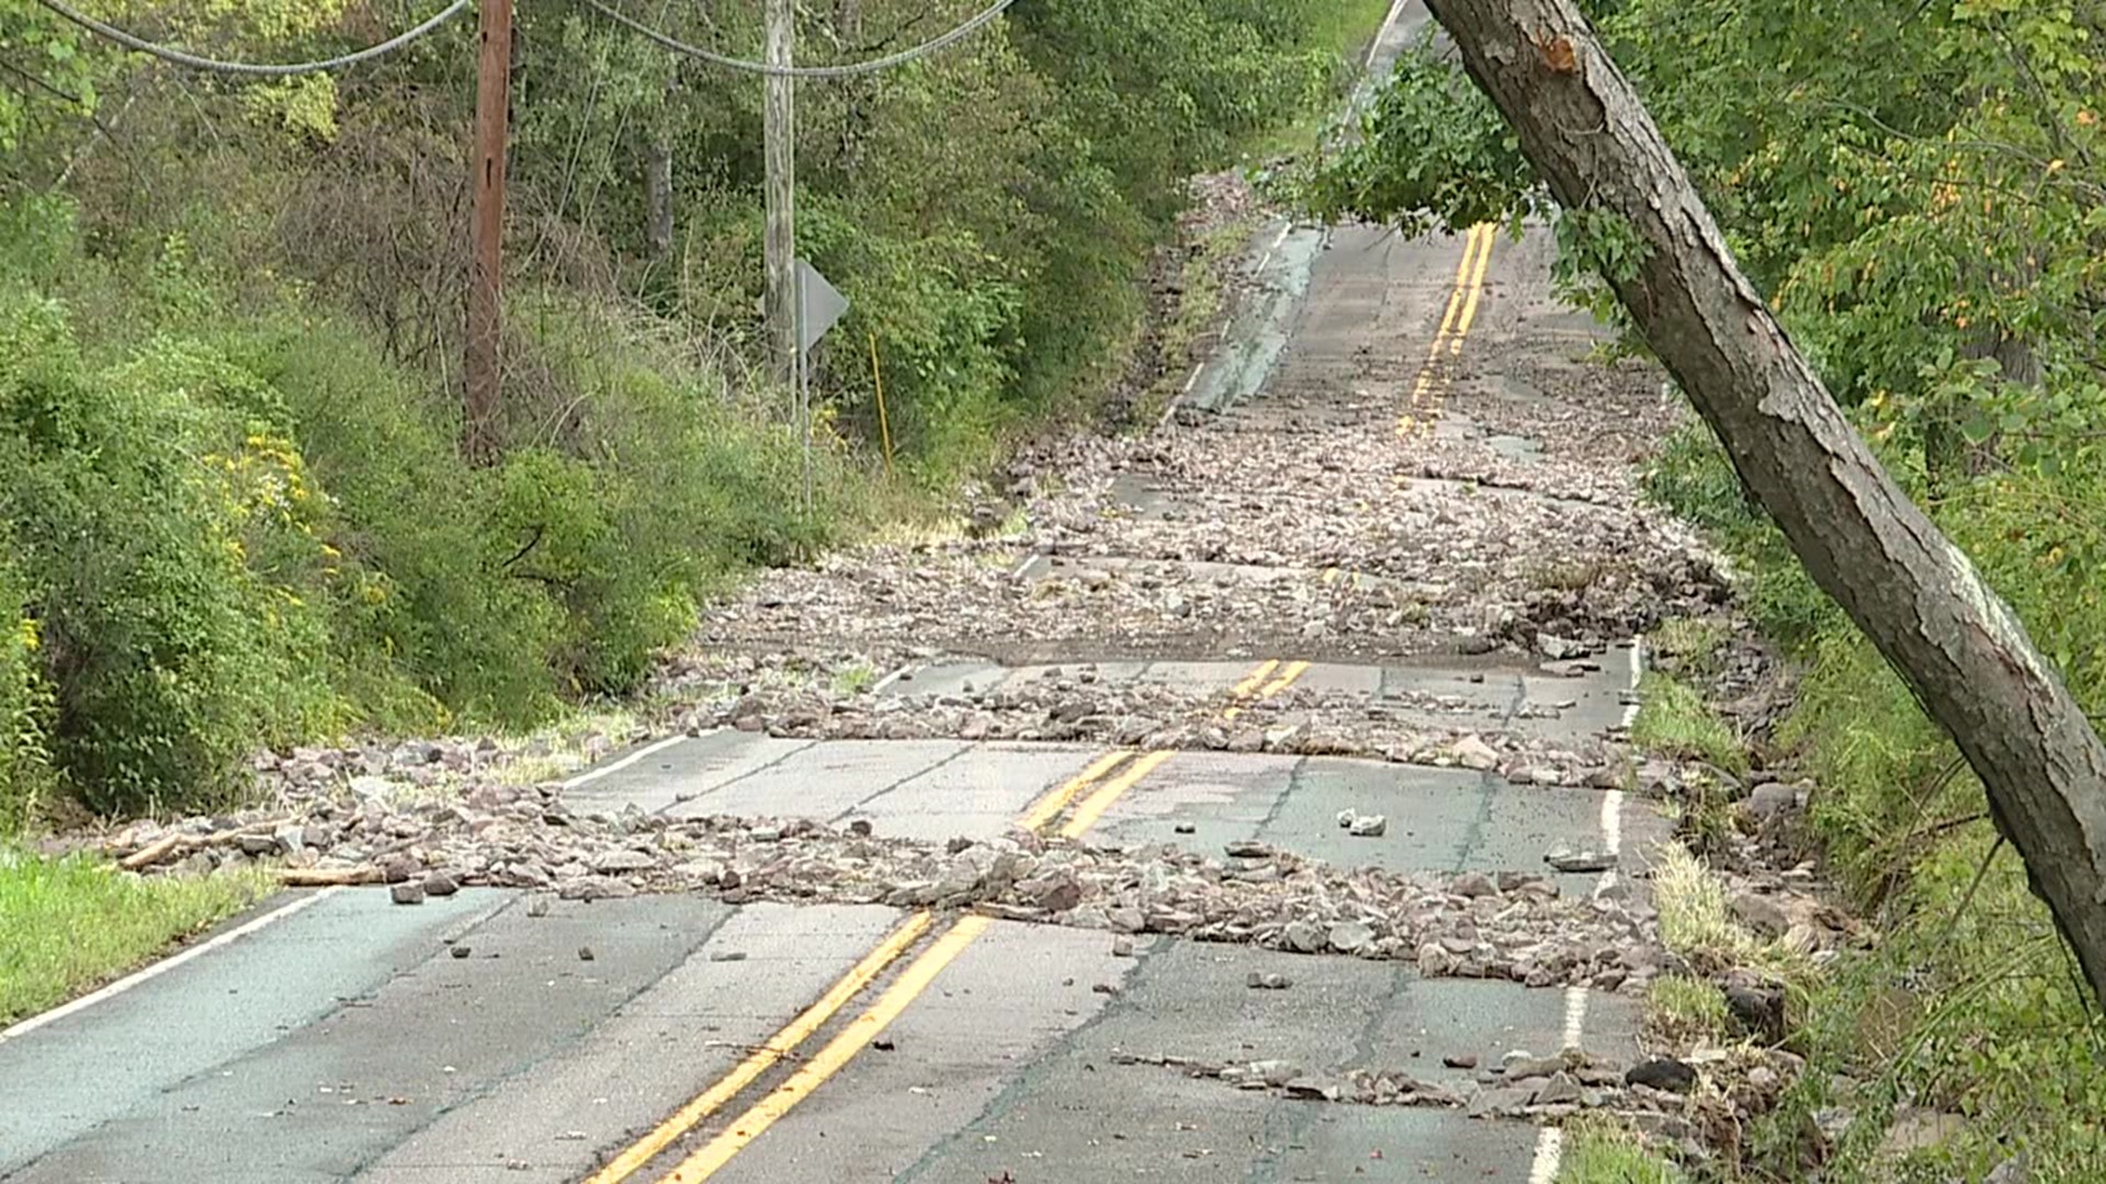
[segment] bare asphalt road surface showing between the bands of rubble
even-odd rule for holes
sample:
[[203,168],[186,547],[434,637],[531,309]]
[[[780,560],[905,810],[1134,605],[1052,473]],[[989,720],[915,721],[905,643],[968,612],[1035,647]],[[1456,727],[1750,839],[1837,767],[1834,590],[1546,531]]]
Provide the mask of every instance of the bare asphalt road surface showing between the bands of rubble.
[[[1422,21],[1409,4],[1390,44]],[[1474,280],[1457,268],[1462,249],[1369,230],[1259,240],[1270,295],[1194,377],[1192,398],[1219,411],[1203,430],[1388,434],[1400,402],[1438,398],[1415,375],[1457,284],[1476,293],[1472,352],[1569,352],[1586,333],[1548,301],[1542,242],[1502,244]],[[1478,373],[1478,386],[1497,381],[1497,367]],[[1175,501],[1127,493],[1141,514]],[[1017,579],[1049,569],[1038,560]],[[1411,691],[1459,695],[1485,729],[1556,739],[1624,723],[1638,655],[1613,657],[1586,678],[1483,659],[1310,666],[1293,653],[1101,670],[1224,702],[1283,680],[1403,714]],[[1253,672],[1259,659],[1270,666]],[[910,674],[901,685],[931,689],[1036,672]],[[1398,870],[1539,870],[1552,847],[1594,847],[1620,851],[1628,876],[1662,828],[1622,794],[1462,769],[1230,752],[1112,763],[1055,744],[741,731],[634,752],[571,796],[579,809],[870,820],[937,841],[1019,822],[1215,853],[1261,838]],[[1379,809],[1390,830],[1350,838],[1342,809]],[[463,891],[398,908],[371,889],[291,893],[177,965],[0,1037],[0,1180],[1539,1184],[1556,1136],[1529,1123],[1293,1100],[1156,1062],[1409,1066],[1441,1081],[1464,1077],[1443,1068],[1451,1055],[1632,1051],[1632,1005],[1580,988],[1422,980],[1396,963],[1175,938],[1114,944],[880,906]],[[1253,971],[1291,986],[1251,990]]]

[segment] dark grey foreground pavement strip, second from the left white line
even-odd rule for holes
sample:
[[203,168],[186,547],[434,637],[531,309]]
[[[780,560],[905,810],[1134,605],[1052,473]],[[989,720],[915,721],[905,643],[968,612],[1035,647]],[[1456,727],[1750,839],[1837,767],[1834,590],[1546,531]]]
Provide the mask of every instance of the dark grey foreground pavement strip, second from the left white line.
[[[385,929],[400,925],[398,912],[423,912],[394,906],[375,891],[341,900],[354,933],[345,946],[358,954],[371,952],[356,935],[360,927]],[[421,961],[369,996],[312,1015],[272,1043],[128,1106],[103,1108],[86,1133],[46,1146],[8,1180],[263,1184],[352,1178],[499,1083],[550,1070],[585,1032],[682,965],[731,916],[729,906],[693,895],[564,906],[548,916],[529,916],[520,900],[514,895],[474,925],[449,927],[446,940],[465,946],[470,956],[453,959],[449,942],[432,940]],[[585,948],[590,961],[581,954]],[[312,946],[267,946],[267,956],[291,959],[284,973],[293,975],[301,973],[303,954],[314,954]],[[156,999],[162,994],[154,990]],[[171,1030],[187,1032],[219,1003],[196,994],[196,986],[173,992],[164,1001],[175,1013]],[[154,1039],[147,1037],[147,1045]]]

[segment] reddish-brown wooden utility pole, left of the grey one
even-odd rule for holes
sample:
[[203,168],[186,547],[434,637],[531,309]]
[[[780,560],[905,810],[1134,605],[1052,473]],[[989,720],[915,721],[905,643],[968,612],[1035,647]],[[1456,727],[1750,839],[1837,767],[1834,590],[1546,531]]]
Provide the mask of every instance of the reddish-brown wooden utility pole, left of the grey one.
[[512,105],[512,0],[480,0],[476,19],[476,143],[470,175],[474,192],[468,259],[468,388],[470,457],[486,459],[495,447],[495,417],[501,392],[503,341],[503,236],[505,236],[505,141]]

